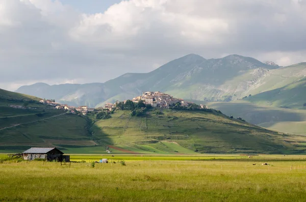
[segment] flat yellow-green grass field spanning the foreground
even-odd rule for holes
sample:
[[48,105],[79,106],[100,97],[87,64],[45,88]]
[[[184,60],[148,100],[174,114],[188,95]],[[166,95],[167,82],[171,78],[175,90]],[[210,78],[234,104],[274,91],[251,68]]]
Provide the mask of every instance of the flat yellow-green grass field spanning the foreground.
[[[5,155],[0,155],[5,158]],[[92,161],[108,158],[116,163]],[[0,201],[305,201],[306,156],[71,155],[0,161]],[[124,160],[126,165],[121,165]],[[262,165],[262,163],[270,165]],[[256,165],[253,165],[256,164]],[[292,166],[292,167],[291,167]]]

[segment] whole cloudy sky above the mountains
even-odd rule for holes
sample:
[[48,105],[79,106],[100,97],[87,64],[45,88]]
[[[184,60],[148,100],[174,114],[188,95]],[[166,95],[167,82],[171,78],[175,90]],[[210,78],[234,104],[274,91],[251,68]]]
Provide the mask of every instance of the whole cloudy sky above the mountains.
[[0,88],[105,82],[181,56],[306,61],[306,0],[0,0]]

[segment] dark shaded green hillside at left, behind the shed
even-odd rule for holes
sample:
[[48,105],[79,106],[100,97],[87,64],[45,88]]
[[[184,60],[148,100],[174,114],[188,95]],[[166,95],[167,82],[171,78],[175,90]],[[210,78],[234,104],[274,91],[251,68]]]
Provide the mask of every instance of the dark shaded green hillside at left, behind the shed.
[[56,110],[39,100],[0,89],[0,151],[20,152],[33,146],[52,147],[59,142],[95,145],[84,118]]

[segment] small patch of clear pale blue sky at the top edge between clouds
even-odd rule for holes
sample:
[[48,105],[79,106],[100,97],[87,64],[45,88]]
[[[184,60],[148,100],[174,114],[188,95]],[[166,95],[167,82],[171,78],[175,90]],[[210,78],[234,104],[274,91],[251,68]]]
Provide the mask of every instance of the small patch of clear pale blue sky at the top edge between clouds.
[[62,4],[70,5],[82,13],[101,13],[110,6],[122,0],[60,0]]

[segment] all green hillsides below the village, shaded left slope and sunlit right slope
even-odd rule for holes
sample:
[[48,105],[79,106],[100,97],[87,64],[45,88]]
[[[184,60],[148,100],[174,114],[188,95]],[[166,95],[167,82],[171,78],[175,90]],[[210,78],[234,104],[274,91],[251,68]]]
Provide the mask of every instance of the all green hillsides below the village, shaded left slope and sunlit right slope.
[[[0,152],[29,147],[58,147],[65,153],[198,154],[303,153],[305,138],[270,131],[224,116],[220,111],[151,109],[144,117],[116,110],[110,119],[96,120],[48,108],[35,100],[32,107],[13,108],[27,95],[1,91]],[[7,98],[7,97],[6,97]],[[21,102],[22,101],[22,102]]]

